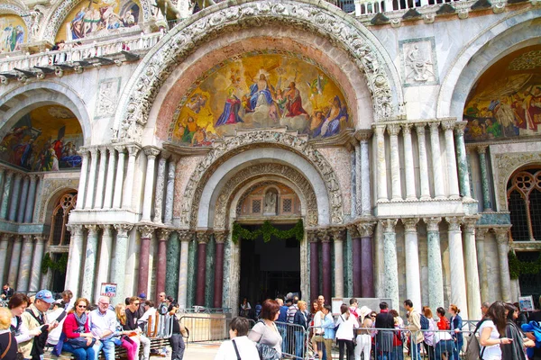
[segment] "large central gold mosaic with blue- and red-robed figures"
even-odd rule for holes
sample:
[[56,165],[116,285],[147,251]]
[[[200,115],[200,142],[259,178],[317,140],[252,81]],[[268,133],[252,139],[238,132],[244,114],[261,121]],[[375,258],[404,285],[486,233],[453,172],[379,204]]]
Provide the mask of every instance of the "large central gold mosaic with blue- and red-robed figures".
[[311,59],[256,51],[217,64],[191,85],[169,139],[209,146],[237,129],[276,127],[321,139],[351,126],[343,92]]

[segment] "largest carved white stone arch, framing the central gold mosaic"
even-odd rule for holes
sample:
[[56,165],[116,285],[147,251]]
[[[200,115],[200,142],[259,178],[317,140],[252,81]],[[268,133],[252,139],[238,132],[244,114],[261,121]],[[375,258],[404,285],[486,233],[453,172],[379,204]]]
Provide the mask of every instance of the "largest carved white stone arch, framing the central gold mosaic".
[[266,24],[286,25],[329,39],[353,58],[371,90],[375,118],[398,116],[403,103],[399,75],[379,40],[353,17],[325,2],[307,0],[270,3],[265,1],[211,6],[180,23],[143,58],[126,86],[115,116],[115,139],[141,141],[151,105],[161,85],[183,59],[201,44],[224,31]]

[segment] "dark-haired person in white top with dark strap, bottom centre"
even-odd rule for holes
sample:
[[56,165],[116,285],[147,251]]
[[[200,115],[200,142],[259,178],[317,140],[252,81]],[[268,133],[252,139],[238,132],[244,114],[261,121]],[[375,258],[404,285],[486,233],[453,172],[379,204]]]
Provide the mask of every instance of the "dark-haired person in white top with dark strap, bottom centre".
[[[259,359],[255,344],[246,336],[250,329],[248,320],[243,317],[234,318],[229,327],[231,340],[222,343],[215,360]],[[171,357],[171,360],[173,359],[175,358]]]

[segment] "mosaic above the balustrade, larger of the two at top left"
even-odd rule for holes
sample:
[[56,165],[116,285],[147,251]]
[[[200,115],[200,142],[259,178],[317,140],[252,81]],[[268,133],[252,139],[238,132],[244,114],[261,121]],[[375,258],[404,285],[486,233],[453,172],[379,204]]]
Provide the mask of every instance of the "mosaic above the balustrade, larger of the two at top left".
[[56,41],[105,36],[139,22],[140,4],[122,0],[90,0],[78,4],[68,15]]

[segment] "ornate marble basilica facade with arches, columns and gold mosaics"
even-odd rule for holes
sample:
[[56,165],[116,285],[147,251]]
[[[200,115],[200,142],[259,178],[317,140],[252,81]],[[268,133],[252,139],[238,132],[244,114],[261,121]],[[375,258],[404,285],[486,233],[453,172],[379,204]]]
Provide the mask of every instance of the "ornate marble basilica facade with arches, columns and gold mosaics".
[[4,284],[539,295],[536,0],[151,3],[0,4]]

